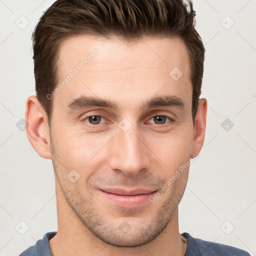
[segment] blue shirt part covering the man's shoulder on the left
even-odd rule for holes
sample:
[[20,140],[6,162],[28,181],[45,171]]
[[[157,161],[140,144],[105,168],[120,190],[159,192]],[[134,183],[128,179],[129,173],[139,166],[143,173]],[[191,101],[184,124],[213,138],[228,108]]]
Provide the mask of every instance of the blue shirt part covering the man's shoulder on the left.
[[56,231],[45,233],[42,239],[37,240],[35,245],[24,250],[19,256],[52,256],[49,239],[56,233]]

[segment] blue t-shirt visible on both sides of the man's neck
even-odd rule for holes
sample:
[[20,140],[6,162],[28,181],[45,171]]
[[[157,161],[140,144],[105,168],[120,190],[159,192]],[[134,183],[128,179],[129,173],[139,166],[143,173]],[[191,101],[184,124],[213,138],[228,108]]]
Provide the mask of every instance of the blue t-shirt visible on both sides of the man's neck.
[[[52,256],[49,246],[49,239],[57,232],[48,232],[35,245],[30,246],[19,256]],[[187,240],[185,256],[250,256],[248,252],[216,243],[193,238],[189,233],[182,233]]]

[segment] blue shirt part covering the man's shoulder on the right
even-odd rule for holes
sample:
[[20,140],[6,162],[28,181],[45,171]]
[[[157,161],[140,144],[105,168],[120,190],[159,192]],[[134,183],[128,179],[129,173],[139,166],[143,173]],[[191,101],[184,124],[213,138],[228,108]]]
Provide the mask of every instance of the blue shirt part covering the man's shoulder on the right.
[[245,250],[233,246],[193,238],[188,233],[182,233],[182,235],[188,242],[185,256],[197,254],[201,256],[250,256]]

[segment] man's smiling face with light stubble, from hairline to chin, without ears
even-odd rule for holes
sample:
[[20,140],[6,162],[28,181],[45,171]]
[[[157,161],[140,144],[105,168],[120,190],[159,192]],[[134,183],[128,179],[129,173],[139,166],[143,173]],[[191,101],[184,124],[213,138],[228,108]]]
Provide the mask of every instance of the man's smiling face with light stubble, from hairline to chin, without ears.
[[101,240],[145,244],[166,227],[187,182],[188,168],[172,179],[193,146],[186,47],[179,38],[83,35],[64,40],[58,58],[59,83],[74,73],[52,99],[52,162],[62,193]]

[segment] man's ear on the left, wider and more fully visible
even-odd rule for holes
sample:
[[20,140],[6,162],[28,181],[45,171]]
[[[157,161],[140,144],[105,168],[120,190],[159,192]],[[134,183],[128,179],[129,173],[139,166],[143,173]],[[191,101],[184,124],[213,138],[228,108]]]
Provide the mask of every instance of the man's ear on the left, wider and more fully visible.
[[30,144],[41,157],[51,159],[47,114],[34,95],[26,100],[25,120],[26,134]]

